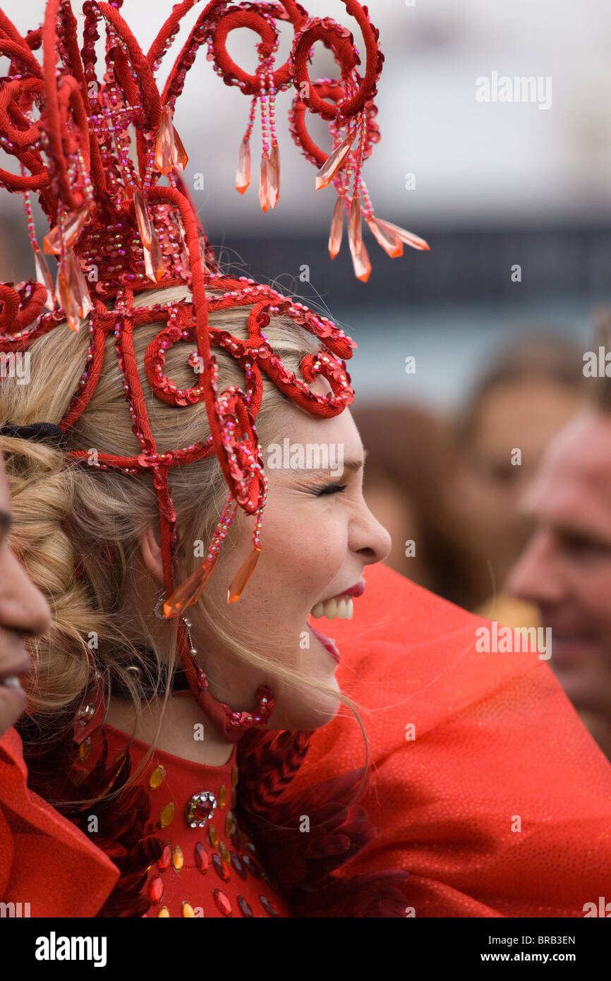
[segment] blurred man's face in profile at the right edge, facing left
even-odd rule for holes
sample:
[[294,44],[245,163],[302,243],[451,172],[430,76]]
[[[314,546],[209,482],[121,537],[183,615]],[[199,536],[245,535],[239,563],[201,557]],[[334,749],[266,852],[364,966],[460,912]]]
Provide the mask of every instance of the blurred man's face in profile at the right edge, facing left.
[[611,415],[587,410],[547,448],[523,501],[534,523],[509,590],[551,627],[550,666],[576,708],[611,714]]

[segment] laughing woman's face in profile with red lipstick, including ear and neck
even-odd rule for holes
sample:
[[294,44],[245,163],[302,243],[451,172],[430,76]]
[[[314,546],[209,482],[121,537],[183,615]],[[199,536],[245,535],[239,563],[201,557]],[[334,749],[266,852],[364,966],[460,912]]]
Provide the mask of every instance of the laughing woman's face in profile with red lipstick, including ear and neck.
[[[318,380],[311,390],[324,393],[329,390],[326,385]],[[254,519],[240,509],[232,526],[235,545],[226,542],[206,592],[212,609],[225,607],[229,624],[243,632],[253,652],[264,658],[275,656],[336,692],[338,662],[310,628],[310,611],[363,584],[363,569],[385,558],[390,537],[363,498],[364,450],[350,412],[346,409],[334,418],[320,419],[290,403],[283,418],[285,428],[276,443],[262,442],[269,489],[257,567],[240,599],[228,604],[229,583],[252,549]],[[275,452],[275,446],[280,451]],[[299,446],[303,461],[297,458]],[[315,446],[320,448],[318,460]],[[303,469],[291,466],[291,457]],[[339,461],[342,468],[337,466]],[[343,606],[344,602],[340,609]],[[356,596],[353,608],[358,619]],[[315,627],[332,638],[332,620],[320,617],[320,607],[316,612]],[[332,613],[332,607],[326,612]],[[275,676],[273,668],[244,665],[228,650],[219,649],[212,638],[195,633],[193,641],[212,694],[231,708],[252,710],[263,684],[276,698],[270,720],[273,729],[315,729],[336,714],[337,697],[284,681]],[[275,650],[272,645],[277,645]]]

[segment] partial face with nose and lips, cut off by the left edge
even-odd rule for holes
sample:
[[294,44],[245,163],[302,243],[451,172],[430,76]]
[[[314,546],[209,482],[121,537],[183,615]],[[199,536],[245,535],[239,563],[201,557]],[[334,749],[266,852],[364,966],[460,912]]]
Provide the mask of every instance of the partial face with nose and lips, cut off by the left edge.
[[25,637],[48,630],[51,611],[9,548],[11,499],[0,452],[0,736],[22,714],[25,693],[19,676],[30,668]]

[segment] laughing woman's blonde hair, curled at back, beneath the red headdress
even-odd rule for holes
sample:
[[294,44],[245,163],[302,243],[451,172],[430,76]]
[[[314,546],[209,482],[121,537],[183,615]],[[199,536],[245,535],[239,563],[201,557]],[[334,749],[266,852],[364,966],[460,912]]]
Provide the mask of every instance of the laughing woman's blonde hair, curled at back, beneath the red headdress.
[[[183,297],[189,297],[186,287],[171,287],[147,293],[140,302],[168,303]],[[246,339],[250,309],[212,313],[211,327]],[[203,402],[188,407],[168,405],[147,385],[144,352],[160,330],[160,324],[138,327],[133,332],[133,344],[138,373],[144,379],[142,388],[151,430],[158,450],[165,452],[206,439],[209,426]],[[272,318],[265,333],[292,371],[298,370],[304,355],[320,347],[316,337],[285,317]],[[88,343],[89,333],[84,326],[75,334],[62,325],[37,338],[30,347],[29,383],[20,386],[16,379],[7,378],[0,387],[0,422],[58,424],[76,391]],[[192,342],[190,346],[192,349]],[[165,372],[178,387],[193,385],[188,349],[178,342],[166,352]],[[237,362],[221,348],[214,352],[220,390],[230,385],[243,387],[243,370]],[[68,431],[69,448],[125,456],[140,452],[131,430],[123,381],[111,335],[93,395]],[[263,381],[263,400],[256,420],[262,444],[280,433],[286,407],[279,389],[265,375]],[[177,659],[176,632],[171,650],[165,648],[162,656],[158,639],[151,635],[141,609],[133,610],[128,605],[129,597],[137,594],[134,558],[138,536],[147,527],[157,527],[158,522],[157,495],[150,476],[72,465],[61,450],[31,440],[3,437],[0,448],[7,454],[14,513],[11,543],[53,612],[50,631],[32,644],[35,670],[28,686],[28,712],[38,720],[38,740],[51,738],[59,720],[67,717],[67,709],[76,709],[85,696],[92,680],[92,637],[97,639],[96,661],[107,676],[114,674],[129,689],[137,713],[141,706],[128,667],[139,662],[146,674],[139,648],[144,646],[155,653],[158,672],[152,681],[156,685],[162,662],[166,661],[172,670]],[[193,554],[193,542],[202,540],[206,546],[210,542],[227,496],[227,485],[216,456],[173,468],[170,484],[178,515],[178,585],[201,564],[202,559]],[[196,499],[194,487],[198,489]],[[76,561],[82,570],[79,577],[75,573]],[[247,636],[239,637],[234,629],[229,630],[225,611],[209,608],[205,590],[196,612],[210,635],[243,663],[262,669],[273,665],[281,679],[337,697],[334,689],[286,666],[280,656],[271,657],[272,637],[265,654],[252,650]],[[278,649],[280,654],[280,644]],[[166,692],[162,719],[170,695]],[[345,695],[339,697],[356,715],[365,735],[356,703]],[[74,718],[74,712],[70,717]],[[155,743],[141,766],[154,746]]]

